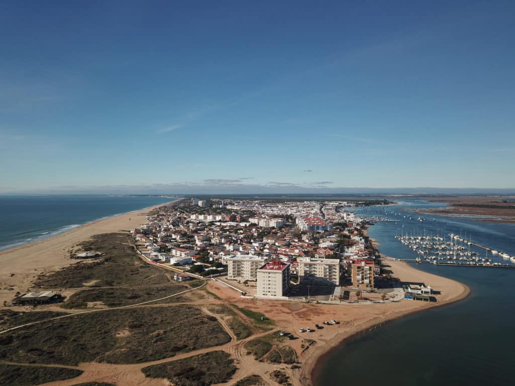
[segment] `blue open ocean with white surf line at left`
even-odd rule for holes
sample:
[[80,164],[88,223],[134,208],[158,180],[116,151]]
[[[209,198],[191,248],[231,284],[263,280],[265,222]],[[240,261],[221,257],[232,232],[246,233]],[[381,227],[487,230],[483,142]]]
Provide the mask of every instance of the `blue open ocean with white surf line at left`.
[[148,196],[0,196],[0,251],[175,200]]

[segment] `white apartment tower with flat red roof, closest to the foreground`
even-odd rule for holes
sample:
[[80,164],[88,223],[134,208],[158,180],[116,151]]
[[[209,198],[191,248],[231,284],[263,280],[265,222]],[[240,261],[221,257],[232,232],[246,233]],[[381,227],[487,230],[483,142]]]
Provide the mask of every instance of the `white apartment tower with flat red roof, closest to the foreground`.
[[272,299],[286,298],[289,292],[290,265],[281,260],[267,262],[258,269],[256,296]]

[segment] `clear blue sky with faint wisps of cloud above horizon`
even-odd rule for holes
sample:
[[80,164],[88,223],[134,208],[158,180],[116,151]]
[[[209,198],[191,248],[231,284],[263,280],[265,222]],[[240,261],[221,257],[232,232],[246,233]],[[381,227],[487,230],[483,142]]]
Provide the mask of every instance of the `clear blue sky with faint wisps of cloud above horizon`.
[[512,1],[3,1],[0,194],[515,188]]

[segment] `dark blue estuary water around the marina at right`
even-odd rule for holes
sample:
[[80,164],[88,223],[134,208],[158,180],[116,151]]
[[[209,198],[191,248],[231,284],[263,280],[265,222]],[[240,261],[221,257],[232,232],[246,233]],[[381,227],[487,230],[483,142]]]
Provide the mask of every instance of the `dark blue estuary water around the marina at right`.
[[[515,255],[514,224],[411,212],[415,208],[443,205],[407,200],[382,210],[375,207],[357,213],[396,220],[378,222],[369,228],[369,236],[380,242],[380,252],[392,257],[417,257],[394,238],[401,232],[438,233],[448,241],[450,233],[461,233],[492,249]],[[372,213],[378,210],[380,213]],[[426,221],[417,221],[418,217]],[[476,250],[478,254],[487,253]],[[509,264],[490,253],[488,257]],[[515,269],[434,266],[425,261],[417,268],[465,283],[471,289],[470,296],[464,301],[387,322],[349,339],[319,363],[315,385],[513,384]]]

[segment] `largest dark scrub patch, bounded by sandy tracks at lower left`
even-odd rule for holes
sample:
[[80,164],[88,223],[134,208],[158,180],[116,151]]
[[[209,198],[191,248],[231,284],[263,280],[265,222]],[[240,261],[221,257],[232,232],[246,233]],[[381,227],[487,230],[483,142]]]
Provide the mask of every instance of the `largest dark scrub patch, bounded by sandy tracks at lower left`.
[[139,363],[230,341],[216,320],[192,306],[92,312],[14,330],[3,338],[0,360],[71,365]]

